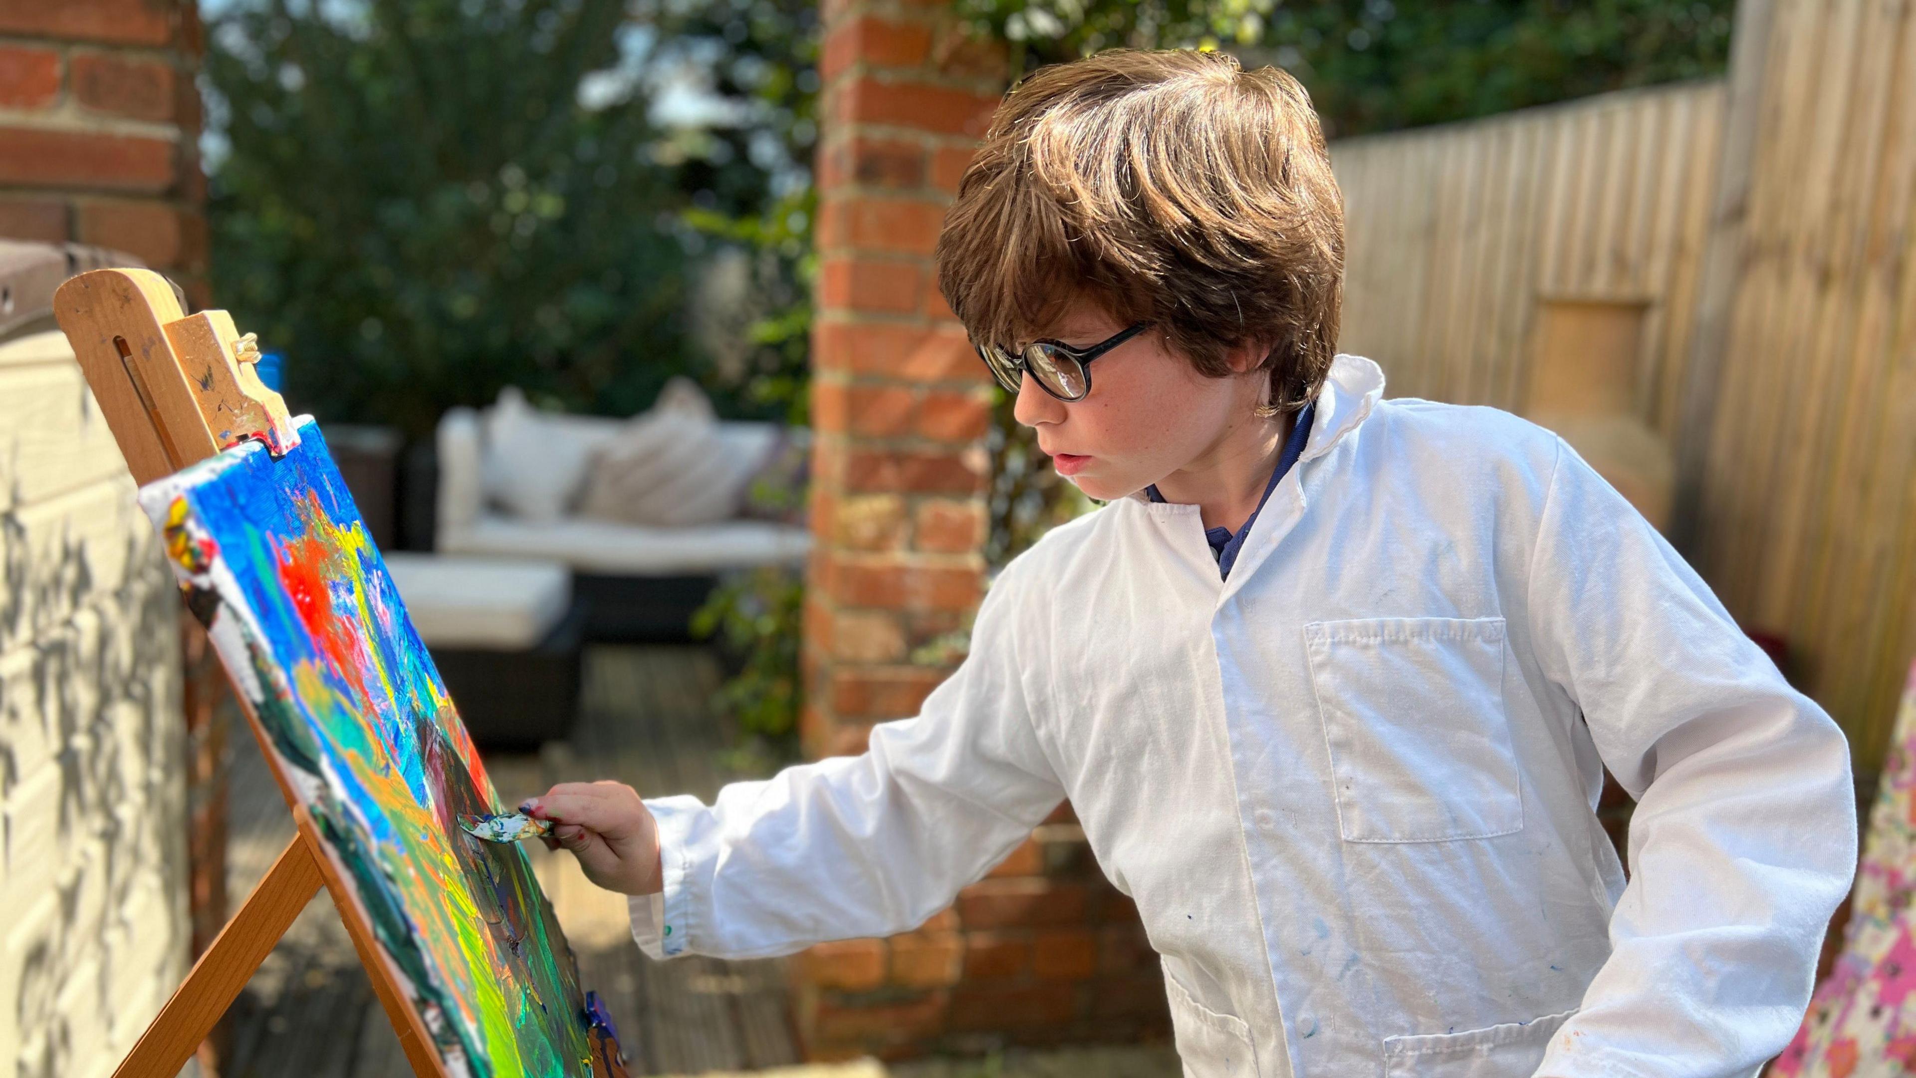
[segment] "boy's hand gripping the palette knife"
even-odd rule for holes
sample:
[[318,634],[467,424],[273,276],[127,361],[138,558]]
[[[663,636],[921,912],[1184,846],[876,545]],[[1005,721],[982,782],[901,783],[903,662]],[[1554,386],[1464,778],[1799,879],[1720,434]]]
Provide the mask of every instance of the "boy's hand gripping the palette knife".
[[653,894],[665,886],[659,867],[659,825],[625,783],[559,783],[527,798],[519,811],[550,819],[548,850],[571,850],[586,879],[621,894]]

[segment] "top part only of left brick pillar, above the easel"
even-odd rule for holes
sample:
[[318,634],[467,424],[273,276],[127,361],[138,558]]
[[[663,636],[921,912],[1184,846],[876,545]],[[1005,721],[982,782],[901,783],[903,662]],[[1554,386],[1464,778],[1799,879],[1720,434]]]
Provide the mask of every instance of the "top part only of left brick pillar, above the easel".
[[126,251],[205,303],[194,0],[0,0],[0,236]]

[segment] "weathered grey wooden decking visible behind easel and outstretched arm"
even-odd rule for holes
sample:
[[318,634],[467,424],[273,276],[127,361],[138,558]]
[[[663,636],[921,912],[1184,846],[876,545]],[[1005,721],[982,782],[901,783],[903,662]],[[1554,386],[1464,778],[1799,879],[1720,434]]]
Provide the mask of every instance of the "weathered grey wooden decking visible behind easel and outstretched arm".
[[[617,779],[644,794],[711,796],[730,775],[707,700],[720,679],[703,648],[592,648],[579,727],[538,756],[489,758],[502,798],[558,781]],[[264,875],[293,825],[251,737],[232,769],[228,886],[236,900]],[[625,900],[579,873],[569,854],[529,846],[546,894],[600,992],[634,1074],[699,1074],[797,1061],[780,961],[653,963],[628,930]],[[247,984],[232,1013],[224,1078],[408,1078],[393,1028],[322,892]]]

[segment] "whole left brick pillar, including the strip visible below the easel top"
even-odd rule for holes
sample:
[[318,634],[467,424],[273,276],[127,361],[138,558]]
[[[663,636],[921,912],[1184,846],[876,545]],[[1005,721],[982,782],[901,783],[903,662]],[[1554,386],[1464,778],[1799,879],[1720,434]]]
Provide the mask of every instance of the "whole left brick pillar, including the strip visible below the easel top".
[[[0,0],[0,236],[125,251],[205,307],[199,52],[194,0]],[[226,923],[226,683],[184,610],[180,633],[197,955]]]

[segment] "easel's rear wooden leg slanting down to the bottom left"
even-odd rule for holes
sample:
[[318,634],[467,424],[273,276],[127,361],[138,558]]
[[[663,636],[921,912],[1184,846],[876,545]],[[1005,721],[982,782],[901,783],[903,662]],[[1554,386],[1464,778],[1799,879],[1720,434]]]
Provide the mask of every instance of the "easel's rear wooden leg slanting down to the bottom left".
[[318,890],[320,865],[295,834],[113,1078],[174,1078]]

